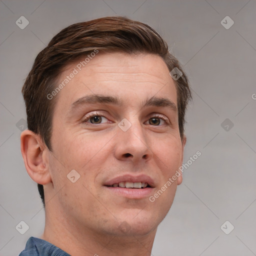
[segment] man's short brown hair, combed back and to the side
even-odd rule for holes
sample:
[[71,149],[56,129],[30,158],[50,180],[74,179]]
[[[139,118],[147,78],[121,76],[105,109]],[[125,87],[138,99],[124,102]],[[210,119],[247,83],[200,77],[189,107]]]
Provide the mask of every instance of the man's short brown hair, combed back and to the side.
[[[185,110],[191,91],[187,76],[178,60],[168,52],[167,43],[147,24],[126,17],[102,17],[72,24],[57,33],[36,56],[22,87],[27,127],[40,134],[49,150],[52,150],[51,123],[57,97],[49,100],[47,95],[56,87],[57,77],[67,64],[94,50],[157,54],[162,57],[169,71],[174,67],[178,68],[182,76],[175,79],[175,86],[179,133],[183,138]],[[38,190],[45,205],[41,184],[38,184]]]

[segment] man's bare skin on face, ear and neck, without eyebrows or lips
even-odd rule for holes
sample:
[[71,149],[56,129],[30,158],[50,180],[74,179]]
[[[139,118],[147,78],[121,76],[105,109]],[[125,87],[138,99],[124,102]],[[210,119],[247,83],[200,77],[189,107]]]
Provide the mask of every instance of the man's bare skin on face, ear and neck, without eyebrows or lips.
[[[58,82],[78,62],[69,64]],[[73,102],[89,94],[116,96],[123,104],[85,103],[70,111]],[[182,164],[185,137],[180,138],[177,111],[164,106],[141,108],[151,96],[177,105],[174,81],[159,56],[98,53],[55,96],[52,151],[38,134],[21,133],[27,172],[44,187],[42,239],[72,256],[150,255],[157,226],[182,175],[154,202],[149,196],[138,199],[112,193],[103,184],[124,173],[146,174],[154,180],[153,195]],[[93,118],[86,121],[95,111],[101,123],[91,123]],[[157,114],[166,116],[167,122]],[[123,118],[131,124],[127,131],[118,126]],[[74,183],[67,178],[72,169],[80,175]]]

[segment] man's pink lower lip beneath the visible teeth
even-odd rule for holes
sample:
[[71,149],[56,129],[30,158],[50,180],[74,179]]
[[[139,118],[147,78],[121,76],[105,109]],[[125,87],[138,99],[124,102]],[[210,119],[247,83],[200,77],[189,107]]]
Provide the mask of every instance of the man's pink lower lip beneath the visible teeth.
[[128,198],[144,198],[148,197],[152,191],[152,187],[145,187],[145,188],[122,188],[122,187],[113,187],[113,186],[105,186],[107,189],[109,189],[110,192],[115,193],[117,195],[122,195]]

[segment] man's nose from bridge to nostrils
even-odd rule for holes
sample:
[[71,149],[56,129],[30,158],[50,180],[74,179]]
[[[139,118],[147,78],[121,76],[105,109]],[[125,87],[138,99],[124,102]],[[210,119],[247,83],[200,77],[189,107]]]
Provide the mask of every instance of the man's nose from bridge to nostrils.
[[130,122],[131,126],[126,130],[117,128],[115,157],[122,161],[148,161],[153,152],[148,145],[145,130],[138,120]]

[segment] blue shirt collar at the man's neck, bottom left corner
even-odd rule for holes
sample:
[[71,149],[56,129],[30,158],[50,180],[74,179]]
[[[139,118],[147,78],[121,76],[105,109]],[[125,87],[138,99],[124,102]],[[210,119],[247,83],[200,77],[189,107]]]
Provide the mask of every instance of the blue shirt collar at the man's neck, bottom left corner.
[[29,237],[25,249],[18,256],[71,256],[54,244],[36,237]]

